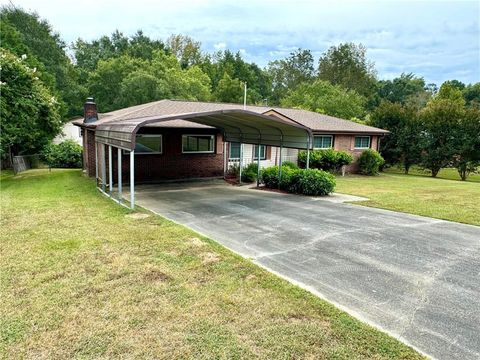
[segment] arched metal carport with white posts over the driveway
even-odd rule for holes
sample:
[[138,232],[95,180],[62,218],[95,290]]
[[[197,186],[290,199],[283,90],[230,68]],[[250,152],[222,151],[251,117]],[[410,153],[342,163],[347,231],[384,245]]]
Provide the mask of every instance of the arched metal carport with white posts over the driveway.
[[[138,130],[149,124],[171,120],[187,120],[189,122],[211,126],[218,129],[224,141],[257,146],[257,159],[260,161],[260,145],[275,146],[280,149],[279,176],[281,177],[281,152],[283,148],[307,150],[307,168],[309,166],[310,149],[312,148],[312,132],[294,121],[280,119],[275,116],[258,114],[248,110],[218,110],[153,117],[141,117],[111,121],[98,125],[95,132],[95,165],[97,186],[105,195],[123,204],[122,197],[122,151],[130,157],[130,207],[135,206],[135,145]],[[113,152],[117,149],[117,198],[113,195]],[[242,146],[240,147],[242,149]],[[242,151],[242,150],[241,150]],[[108,190],[107,165],[108,152]],[[226,152],[224,151],[224,156]],[[226,160],[226,159],[224,159]],[[100,164],[99,164],[100,163]],[[226,161],[224,161],[226,164]],[[100,166],[99,166],[100,165]],[[226,165],[225,165],[226,166]],[[240,164],[240,171],[242,164]],[[99,173],[100,172],[100,173]],[[260,166],[258,166],[258,178]],[[241,173],[240,173],[241,178]],[[99,181],[101,180],[101,181]]]

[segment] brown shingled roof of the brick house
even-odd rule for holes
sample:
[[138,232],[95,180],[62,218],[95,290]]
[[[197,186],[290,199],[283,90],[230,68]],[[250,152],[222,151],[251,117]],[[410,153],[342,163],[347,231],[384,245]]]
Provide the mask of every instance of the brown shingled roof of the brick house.
[[[147,104],[132,106],[125,109],[112,111],[99,115],[99,120],[91,125],[104,124],[110,121],[122,121],[136,118],[166,116],[175,114],[207,112],[217,110],[231,110],[243,109],[241,104],[226,104],[226,103],[212,103],[212,102],[197,102],[197,101],[182,101],[182,100],[160,100]],[[312,111],[301,109],[289,109],[281,107],[269,106],[252,106],[247,105],[246,110],[256,112],[259,114],[271,114],[276,112],[285,120],[291,120],[300,125],[310,128],[314,132],[328,132],[328,133],[366,133],[366,134],[386,134],[388,131],[358,124],[353,121],[339,119],[333,116],[319,114]],[[81,121],[74,123],[80,125]],[[159,124],[150,124],[148,126],[161,127],[202,127],[208,128],[206,125],[196,124],[185,120],[172,120]]]

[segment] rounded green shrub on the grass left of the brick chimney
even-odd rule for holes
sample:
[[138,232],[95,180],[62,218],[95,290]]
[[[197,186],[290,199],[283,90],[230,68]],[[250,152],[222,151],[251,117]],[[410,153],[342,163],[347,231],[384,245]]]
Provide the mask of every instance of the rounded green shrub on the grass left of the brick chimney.
[[73,140],[48,144],[42,151],[42,160],[54,168],[81,168],[82,147]]

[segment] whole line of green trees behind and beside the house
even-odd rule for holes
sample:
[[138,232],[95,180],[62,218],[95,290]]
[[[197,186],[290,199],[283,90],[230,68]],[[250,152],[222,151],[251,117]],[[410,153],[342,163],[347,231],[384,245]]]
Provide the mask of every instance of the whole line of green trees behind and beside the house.
[[[66,44],[36,13],[0,10],[1,156],[45,146],[93,96],[101,112],[178,98],[286,106],[391,131],[381,142],[386,164],[408,172],[419,164],[436,176],[458,166],[462,178],[479,165],[480,83],[447,81],[437,88],[414,74],[378,79],[361,44],[329,48],[316,63],[308,49],[265,68],[239,52],[207,53],[185,35],[152,39],[115,31]],[[447,133],[445,133],[447,132]],[[463,169],[463,170],[460,170]]]

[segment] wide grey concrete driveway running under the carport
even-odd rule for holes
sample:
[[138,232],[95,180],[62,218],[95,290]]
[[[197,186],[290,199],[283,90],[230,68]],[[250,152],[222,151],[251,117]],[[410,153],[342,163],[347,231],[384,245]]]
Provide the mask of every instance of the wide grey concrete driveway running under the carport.
[[480,357],[480,227],[217,183],[137,193],[427,355]]

